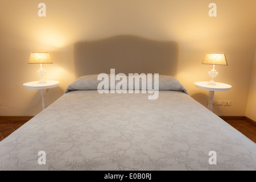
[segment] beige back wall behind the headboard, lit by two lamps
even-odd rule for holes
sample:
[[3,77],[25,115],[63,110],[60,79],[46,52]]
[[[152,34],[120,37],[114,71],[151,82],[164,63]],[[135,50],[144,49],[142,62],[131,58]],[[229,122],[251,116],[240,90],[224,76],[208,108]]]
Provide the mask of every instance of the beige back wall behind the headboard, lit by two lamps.
[[[38,4],[46,3],[46,17]],[[210,17],[209,3],[217,4]],[[214,106],[219,115],[245,115],[255,52],[255,0],[24,0],[1,1],[0,115],[35,115],[42,109],[40,92],[23,88],[39,80],[39,65],[27,64],[29,52],[50,52],[53,64],[43,65],[46,79],[59,80],[47,91],[47,105],[75,80],[73,44],[119,34],[171,40],[179,44],[177,78],[189,94],[207,105],[208,92],[193,82],[208,81],[207,52],[225,52],[228,66],[216,66],[218,82],[233,86],[214,100],[232,100],[231,107]]]

